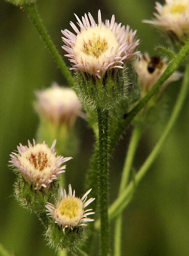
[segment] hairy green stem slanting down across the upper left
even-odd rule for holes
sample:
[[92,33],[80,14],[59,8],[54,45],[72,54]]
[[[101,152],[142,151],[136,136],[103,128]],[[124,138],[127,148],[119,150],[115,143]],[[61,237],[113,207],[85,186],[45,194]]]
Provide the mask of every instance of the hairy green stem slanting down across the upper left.
[[50,50],[54,60],[56,61],[57,65],[59,66],[60,70],[62,71],[62,74],[67,79],[68,83],[72,87],[74,87],[74,85],[75,85],[74,78],[73,78],[71,72],[69,71],[68,67],[66,66],[64,60],[62,60],[62,57],[60,56],[56,47],[52,43],[51,38],[48,35],[46,29],[44,28],[43,22],[40,18],[38,11],[37,11],[36,5],[35,4],[25,4],[22,7],[28,13],[29,18],[32,20],[33,24],[35,25],[35,28],[39,32],[39,35],[42,37],[47,48]]

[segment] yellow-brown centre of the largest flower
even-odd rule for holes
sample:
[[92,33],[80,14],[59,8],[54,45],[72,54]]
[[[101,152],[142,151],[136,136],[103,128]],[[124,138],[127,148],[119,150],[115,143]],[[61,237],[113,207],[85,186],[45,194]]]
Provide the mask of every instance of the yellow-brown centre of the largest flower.
[[101,39],[99,36],[96,38],[95,33],[93,33],[93,40],[84,42],[83,52],[87,55],[94,56],[98,58],[107,49],[107,41],[105,38]]

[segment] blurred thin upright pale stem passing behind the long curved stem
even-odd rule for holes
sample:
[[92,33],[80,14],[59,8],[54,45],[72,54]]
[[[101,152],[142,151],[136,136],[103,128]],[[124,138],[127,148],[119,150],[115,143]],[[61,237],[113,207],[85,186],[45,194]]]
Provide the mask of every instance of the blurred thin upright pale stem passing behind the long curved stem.
[[[130,144],[129,144],[127,156],[125,159],[124,167],[123,167],[121,184],[119,189],[119,196],[122,194],[125,187],[127,186],[129,175],[130,175],[130,169],[133,163],[138,142],[140,140],[141,130],[142,129],[140,126],[136,126],[132,132],[132,137],[130,139]],[[117,216],[117,219],[115,222],[114,256],[121,256],[121,244],[122,244],[121,234],[122,234],[122,212],[119,214],[119,216]]]

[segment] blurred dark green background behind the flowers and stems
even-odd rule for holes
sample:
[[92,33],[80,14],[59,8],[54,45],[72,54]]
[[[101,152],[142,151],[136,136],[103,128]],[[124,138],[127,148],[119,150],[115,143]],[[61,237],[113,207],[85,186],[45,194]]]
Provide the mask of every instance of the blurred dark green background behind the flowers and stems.
[[[163,3],[163,2],[161,2]],[[81,17],[91,12],[97,20],[98,9],[102,19],[129,24],[138,30],[142,52],[154,53],[154,46],[163,44],[158,32],[141,20],[151,19],[152,0],[60,1],[39,0],[39,11],[51,38],[61,52],[61,29],[75,22],[74,13]],[[16,256],[55,255],[44,241],[43,227],[34,214],[22,209],[13,196],[15,174],[7,164],[9,154],[21,142],[35,138],[38,117],[33,109],[34,91],[49,87],[56,81],[66,85],[59,68],[24,10],[1,0],[0,2],[0,243]],[[68,61],[66,60],[69,65]],[[167,118],[179,92],[180,83],[171,84],[166,91]],[[163,131],[166,118],[146,128],[135,157],[135,168],[146,159]],[[133,201],[124,211],[122,255],[187,256],[189,255],[189,101],[154,162],[138,187]],[[78,120],[76,132],[80,139],[77,155],[67,163],[67,184],[71,182],[76,194],[83,193],[93,147],[93,134],[86,122]],[[110,165],[110,203],[116,198],[125,151],[131,127],[114,150]],[[114,222],[111,222],[113,234]],[[98,250],[94,251],[94,256]]]

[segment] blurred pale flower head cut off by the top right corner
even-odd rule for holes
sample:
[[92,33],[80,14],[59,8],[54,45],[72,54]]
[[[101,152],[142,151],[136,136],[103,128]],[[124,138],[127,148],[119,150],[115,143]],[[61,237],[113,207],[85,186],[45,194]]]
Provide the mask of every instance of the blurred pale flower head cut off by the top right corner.
[[165,0],[161,5],[156,2],[154,13],[156,20],[144,20],[153,24],[169,34],[177,41],[184,42],[189,35],[189,1],[188,0]]

